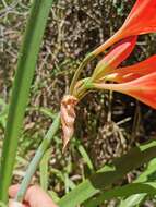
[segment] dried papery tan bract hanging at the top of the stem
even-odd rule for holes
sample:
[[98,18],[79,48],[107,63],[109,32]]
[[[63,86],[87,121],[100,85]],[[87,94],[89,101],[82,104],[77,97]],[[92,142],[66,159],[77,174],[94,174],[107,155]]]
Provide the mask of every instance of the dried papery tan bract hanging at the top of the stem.
[[74,133],[74,121],[75,121],[75,106],[77,98],[71,95],[65,95],[61,101],[61,124],[62,124],[62,139],[63,139],[63,151],[73,136]]

